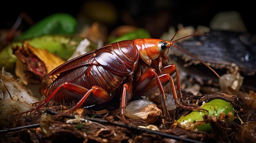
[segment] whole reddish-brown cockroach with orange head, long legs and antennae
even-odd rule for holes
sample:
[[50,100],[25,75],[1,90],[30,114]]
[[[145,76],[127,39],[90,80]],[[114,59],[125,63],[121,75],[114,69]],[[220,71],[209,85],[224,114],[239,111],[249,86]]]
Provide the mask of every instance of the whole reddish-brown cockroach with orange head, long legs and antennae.
[[[125,119],[125,103],[131,99],[133,94],[150,96],[155,92],[162,95],[164,114],[167,117],[170,115],[167,110],[165,92],[173,94],[175,103],[181,108],[206,111],[184,103],[178,69],[175,64],[166,65],[165,62],[168,60],[168,50],[173,46],[200,61],[219,77],[207,64],[175,45],[175,42],[186,37],[206,34],[193,34],[173,40],[175,35],[170,41],[124,40],[75,57],[56,67],[46,76],[47,78],[58,75],[52,84],[42,90],[47,96],[44,101],[41,101],[36,108],[13,116],[33,112],[51,99],[57,102],[65,101],[65,103],[76,102],[76,106],[61,114],[63,115],[71,114],[82,105],[85,107],[98,105],[110,101],[115,95],[121,95],[121,117]],[[143,72],[146,67],[149,69]],[[171,76],[173,73],[176,73],[176,80]],[[170,85],[171,87],[167,87],[168,91],[164,91],[166,86]]]

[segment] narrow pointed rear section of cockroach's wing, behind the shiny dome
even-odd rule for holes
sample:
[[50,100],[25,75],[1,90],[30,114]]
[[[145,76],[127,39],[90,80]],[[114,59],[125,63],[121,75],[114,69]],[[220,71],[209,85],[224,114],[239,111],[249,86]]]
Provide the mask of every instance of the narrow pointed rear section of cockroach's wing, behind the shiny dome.
[[54,70],[52,70],[50,73],[48,73],[48,75],[45,77],[45,79],[49,76],[52,75],[56,75],[58,73],[63,73],[67,70],[71,70],[80,66],[86,66],[86,65],[90,65],[90,64],[97,64],[94,63],[96,62],[94,60],[94,57],[92,56],[92,53],[94,51],[90,52],[90,53],[85,53],[83,55],[80,55],[78,57],[75,57],[74,59],[70,59],[69,61],[61,64],[60,66],[54,68]]

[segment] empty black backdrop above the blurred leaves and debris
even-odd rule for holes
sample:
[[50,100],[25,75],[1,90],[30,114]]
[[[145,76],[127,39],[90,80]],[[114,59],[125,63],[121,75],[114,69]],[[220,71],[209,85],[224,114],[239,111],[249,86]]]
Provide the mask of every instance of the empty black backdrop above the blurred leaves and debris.
[[[25,12],[34,22],[45,18],[52,13],[69,13],[75,18],[81,13],[81,8],[86,1],[31,1],[31,2],[0,2],[0,29],[9,29],[16,21],[20,12]],[[255,9],[252,2],[247,1],[231,1],[223,3],[220,1],[207,0],[130,0],[130,1],[113,1],[111,3],[117,13],[118,19],[115,23],[107,24],[108,31],[123,24],[132,24],[138,27],[144,27],[155,30],[153,37],[159,37],[169,26],[177,27],[178,23],[184,26],[209,26],[209,22],[213,16],[221,11],[238,11],[247,27],[249,33],[256,33]],[[96,9],[97,10],[97,9]],[[132,22],[124,22],[123,14],[126,13],[132,18]],[[29,24],[22,22],[19,29],[25,30]]]

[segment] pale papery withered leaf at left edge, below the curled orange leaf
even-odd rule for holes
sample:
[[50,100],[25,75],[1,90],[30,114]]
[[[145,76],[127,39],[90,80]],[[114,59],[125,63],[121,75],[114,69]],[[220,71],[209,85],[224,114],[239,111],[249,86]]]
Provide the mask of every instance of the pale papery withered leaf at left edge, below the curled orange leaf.
[[18,112],[25,112],[32,103],[39,101],[20,81],[10,73],[0,71],[0,126],[12,127],[10,116]]

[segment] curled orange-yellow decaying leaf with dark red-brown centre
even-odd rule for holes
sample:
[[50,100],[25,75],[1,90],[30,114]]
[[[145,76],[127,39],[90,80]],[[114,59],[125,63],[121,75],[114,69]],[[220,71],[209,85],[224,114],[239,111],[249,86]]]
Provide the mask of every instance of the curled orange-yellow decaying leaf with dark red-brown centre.
[[15,73],[26,85],[43,81],[47,73],[65,62],[47,50],[34,48],[26,41],[22,46],[13,47],[13,53],[18,57]]

